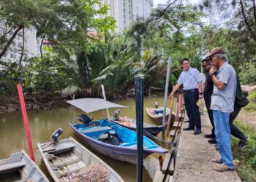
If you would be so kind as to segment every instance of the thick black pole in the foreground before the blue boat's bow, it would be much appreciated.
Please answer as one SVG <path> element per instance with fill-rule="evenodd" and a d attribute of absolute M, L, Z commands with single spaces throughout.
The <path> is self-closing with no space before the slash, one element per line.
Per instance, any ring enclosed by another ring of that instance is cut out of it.
<path fill-rule="evenodd" d="M 136 126 L 137 126 L 137 181 L 143 181 L 143 89 L 144 75 L 135 76 Z"/>

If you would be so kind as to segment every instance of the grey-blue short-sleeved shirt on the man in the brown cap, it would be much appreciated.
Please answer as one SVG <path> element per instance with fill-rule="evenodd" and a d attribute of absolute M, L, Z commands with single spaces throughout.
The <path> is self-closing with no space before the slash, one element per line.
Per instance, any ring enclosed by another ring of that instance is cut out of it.
<path fill-rule="evenodd" d="M 217 78 L 226 86 L 219 90 L 214 85 L 214 93 L 211 95 L 211 109 L 231 113 L 234 111 L 236 96 L 236 72 L 227 62 L 217 71 Z"/>

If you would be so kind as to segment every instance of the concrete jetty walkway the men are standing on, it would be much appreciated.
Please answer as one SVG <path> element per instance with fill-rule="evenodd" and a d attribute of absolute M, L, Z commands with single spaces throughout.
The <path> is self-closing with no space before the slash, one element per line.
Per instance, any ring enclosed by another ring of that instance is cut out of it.
<path fill-rule="evenodd" d="M 219 151 L 213 144 L 208 143 L 204 135 L 211 133 L 211 122 L 208 114 L 201 115 L 202 133 L 193 135 L 193 131 L 179 130 L 177 146 L 171 154 L 166 154 L 162 170 L 158 171 L 153 181 L 173 182 L 216 182 L 232 181 L 241 182 L 235 171 L 217 172 L 213 167 L 217 164 L 211 159 L 219 157 Z M 187 122 L 182 122 L 182 127 L 188 127 Z M 170 132 L 170 135 L 172 131 Z M 164 179 L 164 175 L 167 176 Z"/>

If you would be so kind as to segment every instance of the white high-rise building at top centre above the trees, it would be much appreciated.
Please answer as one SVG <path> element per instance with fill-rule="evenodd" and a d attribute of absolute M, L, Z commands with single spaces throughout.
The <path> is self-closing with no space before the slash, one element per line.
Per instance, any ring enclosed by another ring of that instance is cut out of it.
<path fill-rule="evenodd" d="M 153 0 L 101 0 L 110 7 L 109 16 L 116 19 L 116 32 L 121 32 L 133 21 L 146 18 L 153 8 Z"/>

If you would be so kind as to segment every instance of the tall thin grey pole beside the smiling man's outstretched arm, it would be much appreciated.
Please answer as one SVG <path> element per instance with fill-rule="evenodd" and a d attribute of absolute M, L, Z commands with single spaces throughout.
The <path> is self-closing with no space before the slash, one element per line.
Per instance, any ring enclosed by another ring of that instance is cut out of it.
<path fill-rule="evenodd" d="M 167 106 L 167 95 L 168 95 L 168 85 L 169 85 L 169 77 L 170 77 L 170 66 L 171 66 L 172 59 L 168 58 L 168 65 L 167 65 L 167 74 L 165 80 L 165 100 L 164 100 L 164 113 L 162 117 L 162 125 L 165 126 L 166 121 L 166 106 Z M 170 113 L 171 114 L 171 113 Z M 162 139 L 165 140 L 165 129 L 162 130 Z"/>

